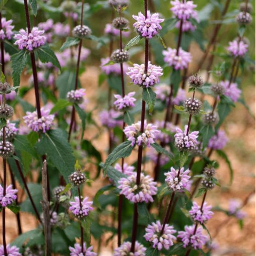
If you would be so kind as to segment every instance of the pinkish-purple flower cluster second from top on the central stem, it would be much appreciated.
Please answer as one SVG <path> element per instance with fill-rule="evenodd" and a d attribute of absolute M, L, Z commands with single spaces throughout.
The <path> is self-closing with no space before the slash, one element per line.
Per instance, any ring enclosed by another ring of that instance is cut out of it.
<path fill-rule="evenodd" d="M 127 72 L 126 74 L 130 76 L 132 82 L 143 87 L 154 86 L 159 82 L 158 77 L 163 75 L 163 69 L 152 65 L 150 61 L 148 62 L 148 70 L 146 74 L 144 64 L 134 64 L 133 67 L 128 69 L 130 72 Z"/>

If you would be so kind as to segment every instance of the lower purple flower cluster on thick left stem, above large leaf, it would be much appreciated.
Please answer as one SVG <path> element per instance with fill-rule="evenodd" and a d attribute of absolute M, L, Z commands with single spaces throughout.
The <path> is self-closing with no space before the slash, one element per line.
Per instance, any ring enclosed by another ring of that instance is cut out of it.
<path fill-rule="evenodd" d="M 50 109 L 41 108 L 41 118 L 38 118 L 37 112 L 26 112 L 23 117 L 25 124 L 34 132 L 43 131 L 44 133 L 50 130 L 53 125 L 54 115 L 50 115 Z"/>

